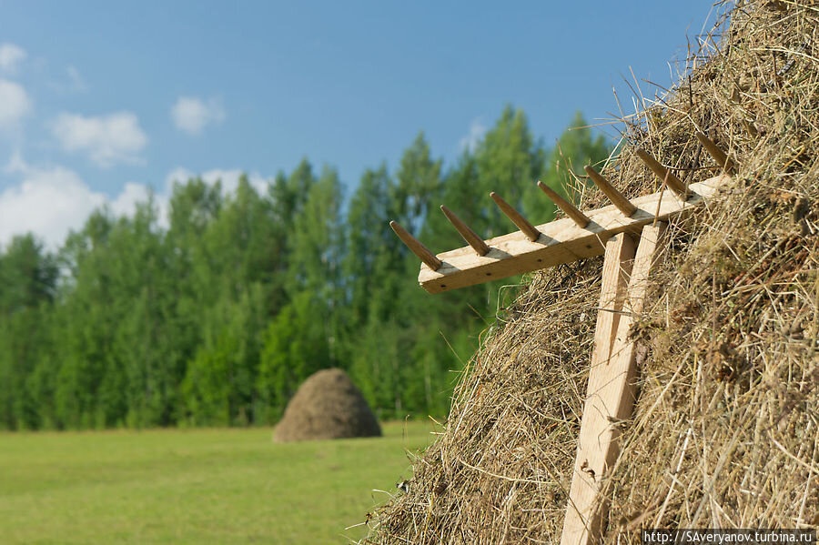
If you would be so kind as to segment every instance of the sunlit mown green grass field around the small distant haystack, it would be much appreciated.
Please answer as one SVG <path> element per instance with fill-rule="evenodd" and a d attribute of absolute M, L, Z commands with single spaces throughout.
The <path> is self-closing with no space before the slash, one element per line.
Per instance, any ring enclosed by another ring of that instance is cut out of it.
<path fill-rule="evenodd" d="M 271 429 L 0 434 L 0 542 L 347 543 L 410 476 L 405 449 L 432 426 L 383 438 L 276 444 Z"/>

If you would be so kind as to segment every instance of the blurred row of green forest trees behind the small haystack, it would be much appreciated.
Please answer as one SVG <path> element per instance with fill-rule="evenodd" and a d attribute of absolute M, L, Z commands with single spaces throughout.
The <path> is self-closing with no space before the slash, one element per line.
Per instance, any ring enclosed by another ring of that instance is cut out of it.
<path fill-rule="evenodd" d="M 421 133 L 349 196 L 333 167 L 305 158 L 263 191 L 247 177 L 235 192 L 177 183 L 167 221 L 149 199 L 131 216 L 96 210 L 59 248 L 33 234 L 3 241 L 0 429 L 269 425 L 329 367 L 346 369 L 381 419 L 445 416 L 519 279 L 430 296 L 388 222 L 437 253 L 464 246 L 441 203 L 485 237 L 515 228 L 490 191 L 549 221 L 535 182 L 573 197 L 571 173 L 612 151 L 571 130 L 585 125 L 575 115 L 546 146 L 507 106 L 452 165 Z"/>

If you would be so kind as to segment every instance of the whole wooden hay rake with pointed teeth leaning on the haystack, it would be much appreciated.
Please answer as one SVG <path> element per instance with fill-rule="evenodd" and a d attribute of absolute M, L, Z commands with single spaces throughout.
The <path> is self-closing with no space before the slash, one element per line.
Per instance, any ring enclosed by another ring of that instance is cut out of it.
<path fill-rule="evenodd" d="M 483 240 L 442 206 L 443 213 L 469 246 L 437 256 L 399 224 L 389 223 L 422 261 L 418 281 L 430 293 L 604 256 L 591 371 L 561 545 L 586 545 L 596 541 L 603 530 L 607 510 L 604 487 L 620 452 L 622 423 L 631 418 L 635 400 L 636 344 L 630 332 L 642 312 L 652 265 L 662 255 L 665 222 L 702 205 L 731 179 L 734 167 L 731 159 L 707 136 L 697 134 L 697 138 L 723 168 L 723 174 L 686 186 L 669 169 L 638 149 L 637 155 L 662 180 L 661 191 L 629 200 L 597 171 L 586 167 L 591 181 L 612 205 L 581 212 L 538 182 L 567 217 L 537 227 L 492 192 L 490 197 L 520 230 L 489 240 Z"/>

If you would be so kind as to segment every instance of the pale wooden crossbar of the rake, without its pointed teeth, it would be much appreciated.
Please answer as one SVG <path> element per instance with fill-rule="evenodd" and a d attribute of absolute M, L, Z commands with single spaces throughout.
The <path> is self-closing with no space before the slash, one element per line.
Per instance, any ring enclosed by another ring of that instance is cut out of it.
<path fill-rule="evenodd" d="M 520 231 L 490 238 L 490 251 L 476 256 L 470 247 L 460 247 L 438 255 L 443 265 L 436 271 L 421 265 L 418 281 L 430 293 L 473 286 L 488 280 L 507 278 L 540 268 L 569 263 L 584 257 L 600 256 L 605 242 L 618 233 L 639 234 L 642 227 L 671 217 L 685 216 L 731 180 L 720 175 L 692 184 L 686 201 L 670 193 L 653 193 L 632 199 L 637 211 L 623 217 L 613 205 L 586 212 L 591 223 L 581 228 L 564 218 L 537 226 L 541 237 L 532 242 Z M 655 216 L 656 214 L 656 216 Z"/>

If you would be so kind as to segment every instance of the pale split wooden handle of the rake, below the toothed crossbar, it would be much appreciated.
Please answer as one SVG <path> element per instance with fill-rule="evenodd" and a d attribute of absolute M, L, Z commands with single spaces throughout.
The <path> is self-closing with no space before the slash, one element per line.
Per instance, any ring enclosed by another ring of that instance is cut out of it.
<path fill-rule="evenodd" d="M 594 352 L 561 545 L 589 545 L 600 538 L 608 509 L 606 479 L 620 452 L 619 424 L 631 418 L 634 406 L 637 366 L 631 328 L 642 312 L 664 228 L 662 222 L 643 227 L 636 256 L 625 240 L 612 238 L 606 244 Z M 631 257 L 633 264 L 628 262 Z"/>

